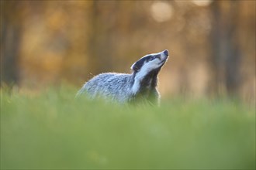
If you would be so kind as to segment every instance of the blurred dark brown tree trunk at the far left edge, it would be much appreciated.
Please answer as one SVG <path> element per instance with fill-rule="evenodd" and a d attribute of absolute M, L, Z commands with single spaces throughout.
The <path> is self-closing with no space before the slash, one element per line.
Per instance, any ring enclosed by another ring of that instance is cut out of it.
<path fill-rule="evenodd" d="M 19 84 L 19 47 L 21 26 L 13 2 L 1 2 L 1 86 Z"/>

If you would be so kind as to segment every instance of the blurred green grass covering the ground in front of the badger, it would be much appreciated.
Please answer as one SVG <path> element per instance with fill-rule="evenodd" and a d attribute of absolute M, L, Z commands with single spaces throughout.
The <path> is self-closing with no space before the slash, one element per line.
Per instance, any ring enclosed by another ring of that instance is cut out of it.
<path fill-rule="evenodd" d="M 255 113 L 231 100 L 121 107 L 73 88 L 1 91 L 1 168 L 255 168 Z"/>

